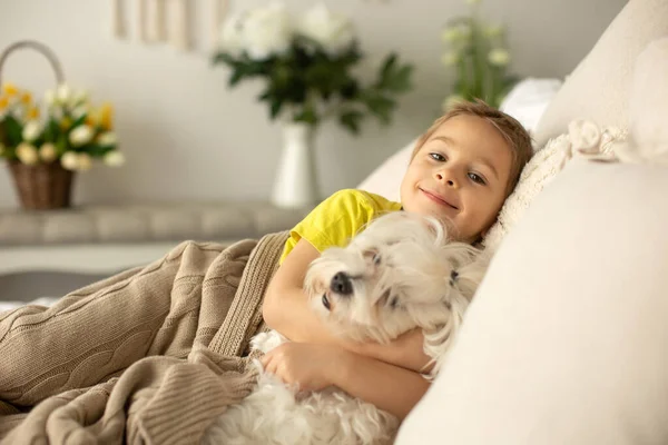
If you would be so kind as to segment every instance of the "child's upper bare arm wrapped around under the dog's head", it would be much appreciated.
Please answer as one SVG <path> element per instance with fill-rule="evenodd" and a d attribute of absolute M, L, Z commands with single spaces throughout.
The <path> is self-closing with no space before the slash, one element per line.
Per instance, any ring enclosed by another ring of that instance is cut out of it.
<path fill-rule="evenodd" d="M 318 256 L 317 249 L 305 239 L 287 255 L 265 295 L 263 317 L 266 324 L 293 342 L 337 345 L 407 369 L 422 370 L 430 359 L 423 352 L 423 336 L 418 330 L 387 345 L 343 340 L 330 333 L 308 306 L 308 297 L 302 288 L 308 265 Z"/>

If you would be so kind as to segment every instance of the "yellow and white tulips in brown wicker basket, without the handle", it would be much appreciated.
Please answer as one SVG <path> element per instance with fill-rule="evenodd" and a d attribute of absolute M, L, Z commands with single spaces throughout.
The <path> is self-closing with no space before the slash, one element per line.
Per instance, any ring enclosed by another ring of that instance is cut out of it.
<path fill-rule="evenodd" d="M 125 161 L 110 105 L 95 108 L 85 91 L 75 92 L 65 83 L 47 91 L 46 103 L 42 111 L 30 92 L 2 86 L 0 157 L 28 209 L 68 207 L 73 174 L 89 170 L 96 158 L 112 167 Z"/>

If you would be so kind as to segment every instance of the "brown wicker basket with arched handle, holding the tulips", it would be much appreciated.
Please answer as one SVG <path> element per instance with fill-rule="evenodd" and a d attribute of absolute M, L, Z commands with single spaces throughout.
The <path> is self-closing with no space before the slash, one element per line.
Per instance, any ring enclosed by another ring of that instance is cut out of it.
<path fill-rule="evenodd" d="M 0 55 L 0 86 L 2 85 L 2 67 L 9 55 L 26 48 L 35 49 L 43 55 L 56 73 L 58 85 L 65 82 L 60 62 L 53 51 L 38 41 L 22 40 L 10 44 Z M 0 138 L 1 136 L 0 134 Z M 7 164 L 23 208 L 45 210 L 70 206 L 73 172 L 62 168 L 60 160 L 35 166 L 27 166 L 16 160 L 9 160 Z"/>

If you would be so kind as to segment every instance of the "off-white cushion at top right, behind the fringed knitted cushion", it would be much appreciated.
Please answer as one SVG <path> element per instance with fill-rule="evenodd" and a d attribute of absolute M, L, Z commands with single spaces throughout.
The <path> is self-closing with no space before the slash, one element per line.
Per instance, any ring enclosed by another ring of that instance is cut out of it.
<path fill-rule="evenodd" d="M 650 41 L 666 34 L 668 1 L 630 0 L 546 110 L 536 131 L 537 146 L 564 132 L 573 119 L 628 127 L 635 60 Z"/>

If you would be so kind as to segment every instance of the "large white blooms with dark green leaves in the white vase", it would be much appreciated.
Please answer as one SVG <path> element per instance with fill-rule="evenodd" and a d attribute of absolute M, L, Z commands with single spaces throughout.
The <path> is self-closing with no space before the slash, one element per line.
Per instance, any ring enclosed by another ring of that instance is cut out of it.
<path fill-rule="evenodd" d="M 354 69 L 363 59 L 348 18 L 317 4 L 299 17 L 283 3 L 244 11 L 223 27 L 214 63 L 227 66 L 228 83 L 262 79 L 258 100 L 272 119 L 316 127 L 330 117 L 356 134 L 366 115 L 389 122 L 394 96 L 411 89 L 412 67 L 389 55 L 377 79 L 363 82 Z"/>

